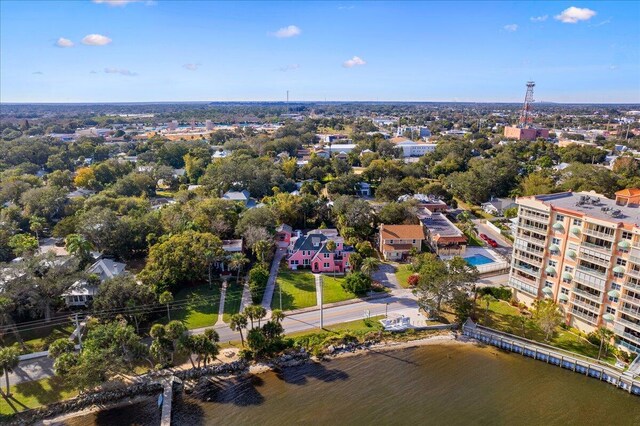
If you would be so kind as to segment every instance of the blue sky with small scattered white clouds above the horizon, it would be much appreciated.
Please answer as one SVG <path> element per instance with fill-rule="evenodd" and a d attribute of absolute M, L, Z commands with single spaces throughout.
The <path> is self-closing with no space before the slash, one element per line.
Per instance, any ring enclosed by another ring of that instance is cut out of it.
<path fill-rule="evenodd" d="M 0 101 L 640 102 L 640 2 L 0 0 Z"/>

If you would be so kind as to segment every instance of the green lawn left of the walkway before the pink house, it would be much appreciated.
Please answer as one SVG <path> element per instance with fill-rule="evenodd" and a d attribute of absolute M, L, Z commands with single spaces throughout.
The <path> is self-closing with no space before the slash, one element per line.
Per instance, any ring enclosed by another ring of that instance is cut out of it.
<path fill-rule="evenodd" d="M 280 290 L 283 311 L 316 305 L 316 283 L 311 272 L 280 269 L 271 301 L 272 309 L 280 309 Z"/>

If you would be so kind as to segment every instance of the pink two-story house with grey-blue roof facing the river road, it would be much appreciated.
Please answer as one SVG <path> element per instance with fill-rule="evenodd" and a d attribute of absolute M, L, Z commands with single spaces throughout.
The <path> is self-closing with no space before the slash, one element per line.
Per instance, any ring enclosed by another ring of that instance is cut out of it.
<path fill-rule="evenodd" d="M 327 243 L 336 243 L 332 252 Z M 344 239 L 335 229 L 316 229 L 307 235 L 291 239 L 288 259 L 290 269 L 309 268 L 312 272 L 347 272 L 350 270 L 349 256 L 353 249 L 345 246 Z"/>

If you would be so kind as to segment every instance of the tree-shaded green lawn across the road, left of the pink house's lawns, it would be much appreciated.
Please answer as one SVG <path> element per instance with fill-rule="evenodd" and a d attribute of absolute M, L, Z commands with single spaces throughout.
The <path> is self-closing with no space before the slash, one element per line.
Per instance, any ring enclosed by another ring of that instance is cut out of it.
<path fill-rule="evenodd" d="M 220 284 L 213 283 L 197 287 L 187 287 L 175 295 L 175 302 L 186 302 L 181 307 L 171 311 L 172 320 L 184 322 L 188 329 L 200 327 L 213 327 L 218 320 L 218 308 L 220 307 Z M 162 319 L 167 322 L 167 317 Z"/>

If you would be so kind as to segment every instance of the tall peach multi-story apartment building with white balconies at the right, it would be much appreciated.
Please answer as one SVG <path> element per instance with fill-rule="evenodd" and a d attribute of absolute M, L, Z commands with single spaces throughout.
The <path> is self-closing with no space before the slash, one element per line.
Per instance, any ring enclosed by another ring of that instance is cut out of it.
<path fill-rule="evenodd" d="M 509 285 L 527 304 L 549 298 L 566 323 L 614 331 L 640 353 L 640 189 L 517 199 Z"/>

